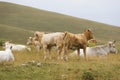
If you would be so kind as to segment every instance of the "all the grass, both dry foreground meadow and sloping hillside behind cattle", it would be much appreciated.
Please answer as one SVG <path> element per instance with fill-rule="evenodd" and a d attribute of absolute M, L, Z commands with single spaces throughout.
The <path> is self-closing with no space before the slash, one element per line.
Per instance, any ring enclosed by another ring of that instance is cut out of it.
<path fill-rule="evenodd" d="M 98 44 L 117 40 L 118 54 L 58 61 L 52 51 L 52 60 L 43 61 L 43 50 L 13 52 L 12 65 L 0 65 L 0 80 L 120 80 L 120 28 L 95 21 L 75 18 L 22 5 L 0 2 L 0 41 L 26 44 L 34 31 L 82 33 L 92 29 Z M 1 50 L 2 48 L 0 48 Z M 26 65 L 27 63 L 27 65 Z M 39 63 L 39 66 L 37 65 Z"/>

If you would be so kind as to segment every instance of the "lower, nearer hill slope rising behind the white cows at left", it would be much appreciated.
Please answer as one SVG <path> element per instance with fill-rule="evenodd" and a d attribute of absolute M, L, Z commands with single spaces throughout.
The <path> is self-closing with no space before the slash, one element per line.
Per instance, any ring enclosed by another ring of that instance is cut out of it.
<path fill-rule="evenodd" d="M 27 36 L 33 35 L 32 31 L 28 31 L 25 29 L 21 29 L 18 27 L 11 27 L 7 25 L 0 24 L 0 39 L 2 40 L 12 40 L 13 43 L 23 43 L 25 44 L 25 40 L 27 41 Z M 26 37 L 25 37 L 26 36 Z"/>

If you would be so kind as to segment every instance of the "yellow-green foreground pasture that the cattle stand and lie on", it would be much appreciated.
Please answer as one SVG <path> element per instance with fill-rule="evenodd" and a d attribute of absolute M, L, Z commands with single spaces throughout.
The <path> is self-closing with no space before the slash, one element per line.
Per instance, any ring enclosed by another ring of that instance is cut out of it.
<path fill-rule="evenodd" d="M 43 50 L 14 51 L 14 64 L 0 65 L 0 80 L 120 80 L 120 53 L 89 57 L 88 61 L 72 57 L 65 62 L 52 52 L 52 60 L 45 62 Z"/>

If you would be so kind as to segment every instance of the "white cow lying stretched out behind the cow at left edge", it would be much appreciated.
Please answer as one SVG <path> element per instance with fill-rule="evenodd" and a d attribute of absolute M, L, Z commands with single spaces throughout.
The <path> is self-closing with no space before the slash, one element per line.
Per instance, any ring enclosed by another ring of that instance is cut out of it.
<path fill-rule="evenodd" d="M 21 45 L 21 44 L 13 44 L 13 43 L 10 43 L 9 41 L 5 42 L 5 46 L 6 45 L 12 45 L 13 51 L 21 51 L 21 50 L 25 50 L 25 49 L 27 49 L 28 51 L 31 51 L 30 47 L 27 47 L 27 46 Z"/>

